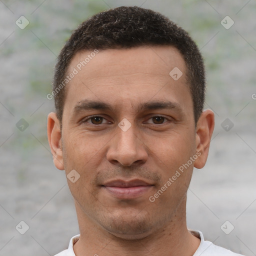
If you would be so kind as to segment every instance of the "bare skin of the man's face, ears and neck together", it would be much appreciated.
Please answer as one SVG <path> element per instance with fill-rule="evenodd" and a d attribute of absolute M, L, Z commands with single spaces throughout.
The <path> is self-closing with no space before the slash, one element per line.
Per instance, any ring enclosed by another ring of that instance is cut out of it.
<path fill-rule="evenodd" d="M 89 53 L 76 53 L 67 73 Z M 169 75 L 174 67 L 183 73 L 177 80 Z M 185 73 L 172 46 L 102 50 L 68 83 L 61 131 L 49 113 L 54 164 L 66 175 L 72 169 L 80 175 L 74 183 L 67 179 L 80 230 L 75 255 L 191 256 L 198 248 L 200 240 L 186 226 L 186 192 L 193 167 L 206 162 L 214 115 L 204 110 L 195 125 Z M 111 108 L 86 109 L 86 100 Z M 171 103 L 138 107 L 145 102 Z M 125 131 L 118 126 L 123 118 L 131 125 Z M 116 189 L 120 180 L 129 188 Z M 141 189 L 133 189 L 136 182 L 144 182 Z"/>

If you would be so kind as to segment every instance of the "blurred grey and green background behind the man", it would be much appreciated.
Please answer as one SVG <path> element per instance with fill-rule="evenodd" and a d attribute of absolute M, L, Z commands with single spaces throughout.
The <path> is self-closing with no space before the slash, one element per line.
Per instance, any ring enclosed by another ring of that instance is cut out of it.
<path fill-rule="evenodd" d="M 194 169 L 188 190 L 188 227 L 256 255 L 254 0 L 0 0 L 0 255 L 54 255 L 79 233 L 65 174 L 47 142 L 54 107 L 46 95 L 71 30 L 121 5 L 165 14 L 201 50 L 215 129 L 208 161 Z"/>

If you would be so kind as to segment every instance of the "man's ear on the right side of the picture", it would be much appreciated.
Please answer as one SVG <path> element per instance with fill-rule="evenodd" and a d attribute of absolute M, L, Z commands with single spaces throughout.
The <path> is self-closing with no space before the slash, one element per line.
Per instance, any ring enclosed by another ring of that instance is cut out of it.
<path fill-rule="evenodd" d="M 198 153 L 197 159 L 194 161 L 195 168 L 202 168 L 207 160 L 210 138 L 214 129 L 214 113 L 210 109 L 205 109 L 196 125 L 196 152 Z"/>

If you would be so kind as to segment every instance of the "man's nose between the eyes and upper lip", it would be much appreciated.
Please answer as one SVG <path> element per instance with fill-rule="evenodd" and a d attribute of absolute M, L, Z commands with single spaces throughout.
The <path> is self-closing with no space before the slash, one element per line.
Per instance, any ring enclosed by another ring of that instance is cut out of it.
<path fill-rule="evenodd" d="M 148 154 L 146 145 L 142 138 L 135 134 L 134 125 L 127 130 L 116 127 L 116 134 L 109 142 L 106 158 L 112 164 L 119 163 L 123 166 L 130 166 L 134 163 L 144 163 Z"/>

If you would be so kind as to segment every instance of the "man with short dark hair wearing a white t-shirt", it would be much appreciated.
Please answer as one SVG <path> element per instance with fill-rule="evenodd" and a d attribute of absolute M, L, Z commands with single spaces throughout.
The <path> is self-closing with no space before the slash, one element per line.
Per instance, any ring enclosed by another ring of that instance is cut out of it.
<path fill-rule="evenodd" d="M 160 13 L 122 6 L 73 31 L 48 95 L 48 141 L 80 230 L 58 256 L 239 255 L 186 226 L 214 127 L 204 91 L 197 46 Z"/>

